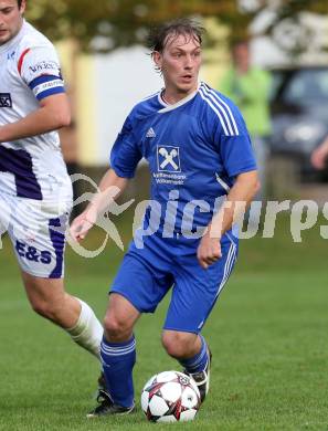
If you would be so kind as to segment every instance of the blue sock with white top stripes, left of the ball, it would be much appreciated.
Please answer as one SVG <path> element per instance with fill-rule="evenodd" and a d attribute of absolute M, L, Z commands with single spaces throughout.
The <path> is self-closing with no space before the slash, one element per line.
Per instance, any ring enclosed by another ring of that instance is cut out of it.
<path fill-rule="evenodd" d="M 136 340 L 109 343 L 103 338 L 100 357 L 105 375 L 106 389 L 115 404 L 134 404 L 133 368 L 136 364 Z"/>

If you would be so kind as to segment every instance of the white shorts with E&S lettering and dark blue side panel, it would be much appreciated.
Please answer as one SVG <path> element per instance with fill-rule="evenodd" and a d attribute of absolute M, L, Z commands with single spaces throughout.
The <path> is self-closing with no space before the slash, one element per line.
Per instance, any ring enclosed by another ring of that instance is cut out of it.
<path fill-rule="evenodd" d="M 8 232 L 24 272 L 61 278 L 71 210 L 72 199 L 44 202 L 0 193 L 0 249 L 1 235 Z"/>

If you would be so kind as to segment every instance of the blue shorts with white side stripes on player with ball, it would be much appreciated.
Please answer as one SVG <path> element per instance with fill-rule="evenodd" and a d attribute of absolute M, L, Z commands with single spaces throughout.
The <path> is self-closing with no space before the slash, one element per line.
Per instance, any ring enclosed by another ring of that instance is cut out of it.
<path fill-rule="evenodd" d="M 130 248 L 114 280 L 110 293 L 126 297 L 140 313 L 154 313 L 172 287 L 165 329 L 200 333 L 237 255 L 237 243 L 224 236 L 222 257 L 203 270 L 197 243 L 152 234 L 142 249 Z"/>

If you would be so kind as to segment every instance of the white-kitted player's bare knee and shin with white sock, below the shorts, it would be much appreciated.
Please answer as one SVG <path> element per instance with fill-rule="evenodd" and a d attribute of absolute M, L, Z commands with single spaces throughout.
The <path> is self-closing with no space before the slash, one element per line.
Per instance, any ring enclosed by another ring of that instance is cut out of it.
<path fill-rule="evenodd" d="M 36 277 L 24 271 L 22 278 L 32 308 L 99 359 L 103 326 L 93 309 L 65 292 L 63 278 Z"/>

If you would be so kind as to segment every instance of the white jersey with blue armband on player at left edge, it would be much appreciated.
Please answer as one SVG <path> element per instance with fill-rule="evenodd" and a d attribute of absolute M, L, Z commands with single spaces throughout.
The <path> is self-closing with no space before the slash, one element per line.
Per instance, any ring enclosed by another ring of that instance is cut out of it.
<path fill-rule="evenodd" d="M 20 32 L 0 46 L 0 126 L 24 118 L 41 99 L 64 91 L 53 44 L 24 21 Z M 35 200 L 55 199 L 54 190 L 61 190 L 62 198 L 68 198 L 71 181 L 59 134 L 2 143 L 0 190 Z"/>

